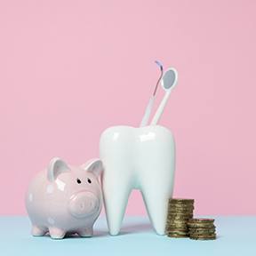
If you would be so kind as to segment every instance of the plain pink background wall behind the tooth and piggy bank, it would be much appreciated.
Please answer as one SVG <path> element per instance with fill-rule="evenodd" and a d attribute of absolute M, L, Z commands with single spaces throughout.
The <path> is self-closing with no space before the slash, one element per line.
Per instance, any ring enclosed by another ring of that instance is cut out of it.
<path fill-rule="evenodd" d="M 1 1 L 0 214 L 25 213 L 28 181 L 52 156 L 83 163 L 109 125 L 140 124 L 154 60 L 180 73 L 161 120 L 177 142 L 174 196 L 195 198 L 198 214 L 255 214 L 255 10 L 249 0 Z M 138 192 L 127 212 L 145 213 Z"/>

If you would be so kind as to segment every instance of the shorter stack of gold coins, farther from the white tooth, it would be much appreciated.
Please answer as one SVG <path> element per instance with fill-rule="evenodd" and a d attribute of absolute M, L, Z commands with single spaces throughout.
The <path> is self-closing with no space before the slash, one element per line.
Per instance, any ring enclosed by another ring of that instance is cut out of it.
<path fill-rule="evenodd" d="M 189 238 L 196 240 L 216 239 L 213 219 L 191 219 L 188 221 Z"/>

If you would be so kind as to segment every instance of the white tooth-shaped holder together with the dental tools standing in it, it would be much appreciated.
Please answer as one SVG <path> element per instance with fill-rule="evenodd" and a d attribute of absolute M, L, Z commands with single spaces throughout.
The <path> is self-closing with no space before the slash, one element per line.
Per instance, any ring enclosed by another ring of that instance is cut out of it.
<path fill-rule="evenodd" d="M 168 198 L 172 197 L 175 145 L 172 132 L 157 122 L 177 82 L 177 72 L 169 68 L 163 76 L 162 66 L 161 72 L 158 82 L 161 80 L 165 95 L 151 124 L 147 125 L 156 90 L 140 127 L 114 126 L 100 137 L 100 159 L 104 166 L 102 188 L 110 235 L 119 233 L 128 197 L 134 188 L 141 191 L 156 233 L 165 233 Z"/>

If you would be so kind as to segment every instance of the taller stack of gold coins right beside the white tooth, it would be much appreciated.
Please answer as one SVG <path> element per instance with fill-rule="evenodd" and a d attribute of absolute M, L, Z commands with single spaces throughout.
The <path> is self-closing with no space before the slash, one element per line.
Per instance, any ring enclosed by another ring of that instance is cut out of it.
<path fill-rule="evenodd" d="M 170 237 L 187 237 L 188 220 L 193 218 L 194 199 L 170 198 L 165 232 Z"/>

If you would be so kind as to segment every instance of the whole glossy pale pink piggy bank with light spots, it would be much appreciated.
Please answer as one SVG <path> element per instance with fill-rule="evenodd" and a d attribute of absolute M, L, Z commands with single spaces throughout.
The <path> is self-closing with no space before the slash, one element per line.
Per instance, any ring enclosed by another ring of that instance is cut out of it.
<path fill-rule="evenodd" d="M 28 187 L 26 207 L 32 235 L 49 232 L 54 239 L 61 239 L 66 233 L 92 236 L 102 206 L 102 169 L 98 159 L 75 167 L 53 158 Z"/>

